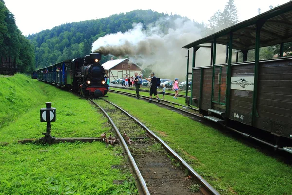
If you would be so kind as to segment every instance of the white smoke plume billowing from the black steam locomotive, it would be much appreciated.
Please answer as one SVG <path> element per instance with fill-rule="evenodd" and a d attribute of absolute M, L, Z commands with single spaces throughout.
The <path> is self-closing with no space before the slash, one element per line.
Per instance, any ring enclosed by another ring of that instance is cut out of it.
<path fill-rule="evenodd" d="M 162 25 L 168 24 L 169 29 L 162 31 Z M 114 56 L 128 55 L 134 63 L 142 64 L 142 68 L 152 65 L 155 75 L 160 78 L 180 78 L 186 76 L 187 50 L 182 47 L 201 38 L 201 30 L 191 20 L 161 19 L 143 29 L 143 24 L 134 23 L 133 29 L 125 33 L 108 34 L 97 39 L 92 45 L 93 52 Z M 197 52 L 200 60 L 197 66 L 210 65 L 210 49 L 201 48 Z M 190 67 L 192 66 L 192 50 L 190 50 Z M 190 68 L 191 71 L 191 68 Z M 146 76 L 147 77 L 147 76 Z"/>

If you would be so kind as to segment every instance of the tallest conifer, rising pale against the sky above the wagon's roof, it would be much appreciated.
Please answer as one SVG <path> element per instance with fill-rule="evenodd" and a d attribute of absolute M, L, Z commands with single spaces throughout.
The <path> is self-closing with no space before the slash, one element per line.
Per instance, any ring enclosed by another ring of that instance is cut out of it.
<path fill-rule="evenodd" d="M 234 0 L 228 0 L 222 16 L 224 28 L 233 26 L 240 21 L 238 18 L 237 7 L 234 4 Z"/>

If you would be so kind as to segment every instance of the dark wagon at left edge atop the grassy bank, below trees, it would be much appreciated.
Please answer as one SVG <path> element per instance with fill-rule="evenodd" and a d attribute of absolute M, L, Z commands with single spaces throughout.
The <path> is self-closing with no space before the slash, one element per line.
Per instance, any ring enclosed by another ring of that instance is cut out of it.
<path fill-rule="evenodd" d="M 0 57 L 0 74 L 1 75 L 14 75 L 17 72 L 17 65 L 15 58 Z"/>

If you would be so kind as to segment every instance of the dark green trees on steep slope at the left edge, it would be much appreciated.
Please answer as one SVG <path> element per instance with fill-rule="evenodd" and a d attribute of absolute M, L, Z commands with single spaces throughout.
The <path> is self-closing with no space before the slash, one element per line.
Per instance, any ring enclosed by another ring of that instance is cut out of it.
<path fill-rule="evenodd" d="M 14 15 L 0 0 L 0 56 L 16 58 L 19 72 L 35 69 L 35 52 L 15 24 Z"/>

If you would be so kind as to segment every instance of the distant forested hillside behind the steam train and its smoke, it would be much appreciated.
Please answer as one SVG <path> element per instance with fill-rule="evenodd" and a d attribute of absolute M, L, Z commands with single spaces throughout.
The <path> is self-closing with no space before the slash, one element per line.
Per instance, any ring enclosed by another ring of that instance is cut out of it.
<path fill-rule="evenodd" d="M 73 59 L 91 53 L 92 43 L 106 34 L 125 32 L 132 29 L 132 24 L 143 23 L 144 27 L 168 14 L 152 10 L 134 10 L 126 14 L 115 14 L 107 18 L 67 23 L 44 30 L 28 39 L 35 46 L 38 67 L 55 64 L 65 59 Z M 178 18 L 178 15 L 170 17 Z M 102 63 L 110 57 L 103 57 Z"/>

